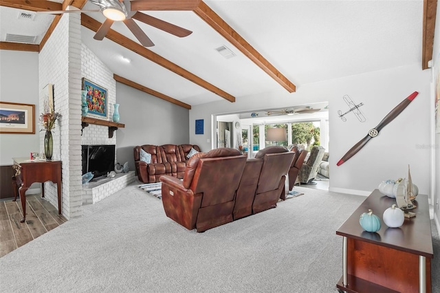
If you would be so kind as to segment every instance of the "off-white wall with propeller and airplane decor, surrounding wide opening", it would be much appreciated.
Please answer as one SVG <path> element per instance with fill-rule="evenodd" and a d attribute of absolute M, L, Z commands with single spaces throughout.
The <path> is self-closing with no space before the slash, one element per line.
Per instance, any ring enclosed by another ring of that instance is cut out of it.
<path fill-rule="evenodd" d="M 421 148 L 431 142 L 432 98 L 430 70 L 419 63 L 404 67 L 348 76 L 321 83 L 300 85 L 296 93 L 280 91 L 237 98 L 236 102 L 212 102 L 193 106 L 190 111 L 190 143 L 203 150 L 211 148 L 212 115 L 258 111 L 329 101 L 330 190 L 368 195 L 382 180 L 406 177 L 408 164 L 412 180 L 420 193 L 430 195 L 430 151 Z M 404 98 L 419 91 L 419 96 L 380 135 L 373 138 L 357 155 L 341 166 L 336 163 L 351 146 L 360 141 Z M 342 122 L 338 110 L 347 109 L 342 96 L 349 94 L 355 102 L 364 102 L 367 120 Z M 195 120 L 205 120 L 205 134 L 195 135 Z"/>

